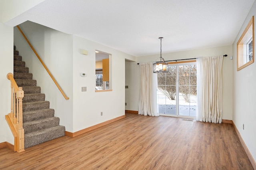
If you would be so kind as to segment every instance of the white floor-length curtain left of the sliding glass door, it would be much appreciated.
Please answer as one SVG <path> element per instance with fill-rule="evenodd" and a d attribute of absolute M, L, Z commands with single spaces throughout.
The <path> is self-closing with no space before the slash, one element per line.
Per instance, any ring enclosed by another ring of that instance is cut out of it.
<path fill-rule="evenodd" d="M 153 73 L 153 63 L 140 63 L 140 100 L 139 114 L 159 116 L 156 112 L 156 73 Z"/>

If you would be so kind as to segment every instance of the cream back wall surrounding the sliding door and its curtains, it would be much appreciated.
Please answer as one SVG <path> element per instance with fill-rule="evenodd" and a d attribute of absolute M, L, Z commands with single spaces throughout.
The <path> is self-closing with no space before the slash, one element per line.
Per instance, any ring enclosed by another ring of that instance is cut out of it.
<path fill-rule="evenodd" d="M 173 59 L 188 59 L 196 57 L 208 57 L 214 55 L 224 55 L 223 60 L 223 117 L 222 119 L 232 120 L 232 45 L 222 47 L 212 47 L 205 49 L 195 49 L 190 51 L 180 51 L 174 53 L 164 53 L 162 57 L 167 60 Z M 159 60 L 160 53 L 157 55 L 148 55 L 137 57 L 136 62 L 126 62 L 126 85 L 129 89 L 126 90 L 126 110 L 138 111 L 139 88 L 140 88 L 140 66 L 138 63 Z M 128 96 L 129 95 L 129 96 Z"/>

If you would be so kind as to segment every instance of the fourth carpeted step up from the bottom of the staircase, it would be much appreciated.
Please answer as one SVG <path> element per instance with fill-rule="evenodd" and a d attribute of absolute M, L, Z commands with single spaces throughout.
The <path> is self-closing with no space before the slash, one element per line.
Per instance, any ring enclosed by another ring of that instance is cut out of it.
<path fill-rule="evenodd" d="M 41 109 L 49 109 L 49 101 L 36 101 L 36 102 L 26 102 L 22 103 L 22 111 L 36 111 Z"/>

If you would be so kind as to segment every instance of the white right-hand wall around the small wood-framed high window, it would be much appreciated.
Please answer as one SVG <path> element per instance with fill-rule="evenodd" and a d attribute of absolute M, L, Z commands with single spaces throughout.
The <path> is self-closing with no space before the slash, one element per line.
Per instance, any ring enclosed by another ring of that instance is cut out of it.
<path fill-rule="evenodd" d="M 254 2 L 244 24 L 238 33 L 234 43 L 233 43 L 233 122 L 236 125 L 238 131 L 240 132 L 246 146 L 248 147 L 250 153 L 254 160 L 256 160 L 256 63 L 255 63 L 255 52 L 254 52 L 254 63 L 236 71 L 236 43 L 238 39 L 244 32 L 248 22 L 254 16 L 254 40 L 256 40 L 255 33 L 255 16 L 256 16 L 256 2 Z M 254 51 L 256 49 L 254 43 Z M 244 130 L 243 130 L 244 124 Z"/>

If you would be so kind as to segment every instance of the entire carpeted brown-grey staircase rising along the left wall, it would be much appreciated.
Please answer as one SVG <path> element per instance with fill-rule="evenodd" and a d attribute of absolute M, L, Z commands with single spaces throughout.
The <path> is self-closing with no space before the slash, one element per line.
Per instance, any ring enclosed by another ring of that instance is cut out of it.
<path fill-rule="evenodd" d="M 15 46 L 14 79 L 24 91 L 24 148 L 64 136 L 65 127 L 59 125 L 58 117 L 54 117 L 54 109 L 49 109 L 50 102 L 44 100 L 45 95 L 40 93 L 41 88 L 36 86 L 36 80 L 32 79 L 32 73 L 28 73 L 28 67 L 25 67 L 25 62 Z"/>

